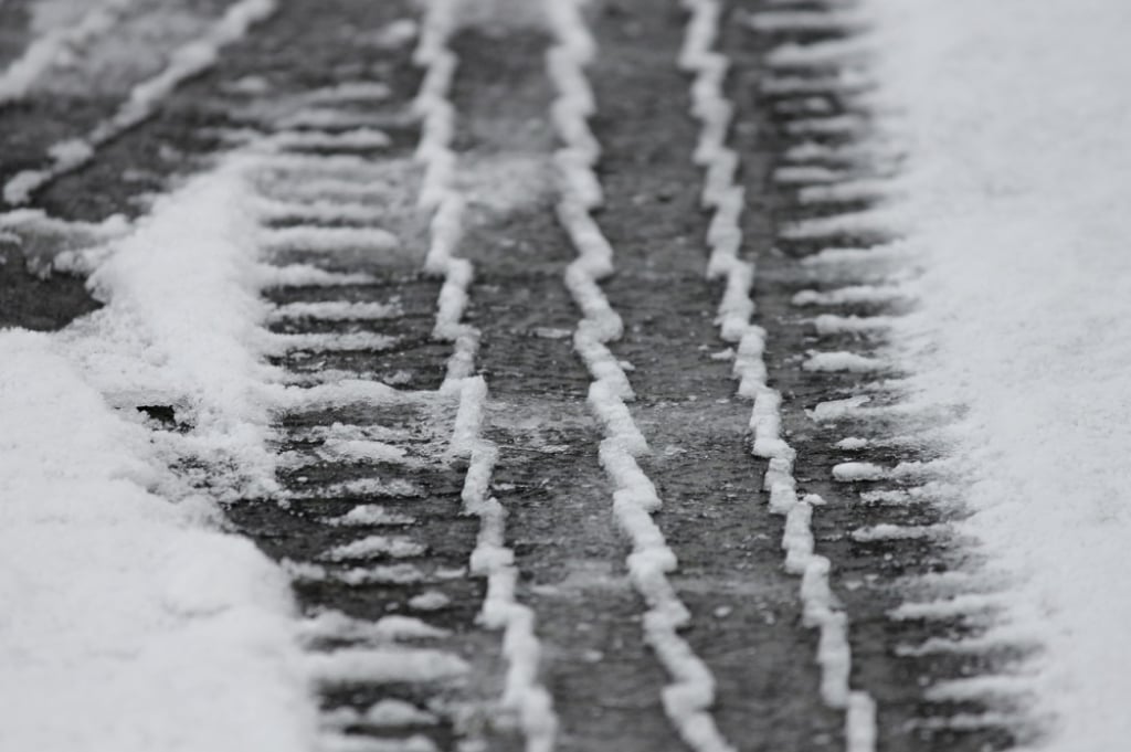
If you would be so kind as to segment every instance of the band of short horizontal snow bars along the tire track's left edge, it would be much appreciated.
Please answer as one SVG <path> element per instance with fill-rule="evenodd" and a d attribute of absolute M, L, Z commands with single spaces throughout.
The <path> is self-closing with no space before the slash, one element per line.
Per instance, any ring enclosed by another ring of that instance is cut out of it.
<path fill-rule="evenodd" d="M 259 171 L 293 166 L 288 142 L 267 139 Z M 333 152 L 310 154 L 304 164 L 318 168 L 320 161 L 330 184 L 375 176 L 349 170 L 335 176 L 343 163 Z M 372 164 L 382 162 L 379 156 Z M 391 178 L 399 176 L 392 170 Z M 265 227 L 268 257 L 303 271 L 293 280 L 299 288 L 273 314 L 284 329 L 275 335 L 282 362 L 353 357 L 337 370 L 303 368 L 300 383 L 279 397 L 283 491 L 231 515 L 285 556 L 305 605 L 308 667 L 326 705 L 320 749 L 430 752 L 466 733 L 447 703 L 467 701 L 459 684 L 475 665 L 465 654 L 467 640 L 452 631 L 466 608 L 455 604 L 477 595 L 461 585 L 467 554 L 460 550 L 470 550 L 473 533 L 458 530 L 444 498 L 457 495 L 460 484 L 447 459 L 448 433 L 458 423 L 451 399 L 382 383 L 372 369 L 357 368 L 385 360 L 383 343 L 400 335 L 382 329 L 404 331 L 406 306 L 429 304 L 425 289 L 408 285 L 381 299 L 389 287 L 379 284 L 380 268 L 406 262 L 387 241 L 366 242 L 366 235 L 388 236 L 382 219 L 345 234 L 321 233 L 325 225 L 317 223 L 288 225 L 303 231 L 293 248 L 277 242 L 277 228 Z M 327 259 L 359 250 L 375 257 L 370 266 L 377 274 L 323 268 Z M 426 336 L 420 332 L 417 342 Z M 388 613 L 390 606 L 414 615 Z"/>

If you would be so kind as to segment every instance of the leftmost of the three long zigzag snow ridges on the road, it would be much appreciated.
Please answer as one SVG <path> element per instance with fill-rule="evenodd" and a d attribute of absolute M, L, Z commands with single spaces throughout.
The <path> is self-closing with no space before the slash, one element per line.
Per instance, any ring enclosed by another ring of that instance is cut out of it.
<path fill-rule="evenodd" d="M 490 494 L 499 452 L 494 443 L 482 438 L 486 381 L 472 375 L 480 330 L 461 322 L 474 268 L 467 259 L 455 256 L 463 231 L 464 198 L 452 187 L 455 107 L 448 97 L 459 59 L 448 42 L 456 27 L 457 3 L 458 0 L 430 0 L 414 54 L 416 64 L 425 70 L 414 102 L 415 111 L 423 118 L 416 149 L 416 158 L 424 164 L 425 171 L 420 205 L 432 211 L 424 268 L 443 275 L 433 336 L 452 342 L 455 348 L 440 391 L 459 396 L 450 452 L 454 458 L 468 463 L 460 498 L 464 512 L 480 519 L 470 560 L 472 573 L 487 580 L 480 619 L 487 629 L 503 630 L 507 678 L 500 705 L 518 716 L 526 737 L 526 752 L 551 752 L 558 736 L 558 717 L 553 698 L 538 682 L 542 646 L 535 634 L 535 616 L 528 606 L 515 598 L 518 568 L 515 552 L 506 545 L 507 511 Z"/>

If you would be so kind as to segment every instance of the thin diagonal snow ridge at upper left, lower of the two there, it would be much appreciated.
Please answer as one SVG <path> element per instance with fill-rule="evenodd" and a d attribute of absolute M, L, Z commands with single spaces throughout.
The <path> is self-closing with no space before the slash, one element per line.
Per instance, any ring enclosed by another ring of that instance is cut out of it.
<path fill-rule="evenodd" d="M 240 0 L 230 7 L 204 36 L 175 50 L 164 70 L 136 85 L 110 120 L 98 123 L 85 137 L 52 146 L 50 166 L 25 170 L 8 180 L 3 187 L 5 201 L 26 204 L 33 192 L 89 163 L 98 148 L 153 116 L 161 102 L 184 80 L 215 64 L 221 47 L 242 38 L 253 24 L 274 14 L 276 6 L 276 0 Z"/>

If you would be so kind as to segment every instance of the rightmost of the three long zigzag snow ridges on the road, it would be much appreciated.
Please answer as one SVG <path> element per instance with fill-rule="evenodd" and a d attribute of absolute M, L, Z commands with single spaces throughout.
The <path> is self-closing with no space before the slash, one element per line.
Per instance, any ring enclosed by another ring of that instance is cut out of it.
<path fill-rule="evenodd" d="M 753 453 L 769 460 L 763 489 L 770 493 L 770 511 L 786 515 L 782 546 L 786 571 L 798 574 L 803 623 L 820 630 L 817 662 L 821 667 L 821 698 L 830 708 L 845 711 L 845 742 L 849 752 L 875 749 L 875 702 L 867 692 L 849 685 L 852 650 L 848 620 L 837 608 L 829 587 L 830 562 L 813 553 L 813 508 L 820 496 L 798 500 L 793 461 L 796 452 L 782 438 L 782 395 L 767 384 L 763 360 L 766 332 L 750 322 L 754 302 L 750 289 L 754 266 L 739 258 L 742 243 L 740 217 L 743 189 L 734 181 L 739 156 L 727 148 L 726 136 L 733 104 L 723 92 L 728 60 L 713 52 L 723 6 L 718 0 L 683 0 L 691 12 L 679 64 L 694 74 L 691 113 L 702 123 L 693 159 L 706 170 L 702 204 L 714 211 L 707 231 L 709 278 L 726 280 L 716 322 L 723 339 L 737 344 L 734 378 L 739 395 L 754 403 L 750 425 L 754 432 Z"/>

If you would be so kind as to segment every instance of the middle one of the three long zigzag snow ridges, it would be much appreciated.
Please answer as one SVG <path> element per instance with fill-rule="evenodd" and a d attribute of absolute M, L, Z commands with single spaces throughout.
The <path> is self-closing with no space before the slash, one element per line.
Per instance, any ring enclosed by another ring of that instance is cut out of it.
<path fill-rule="evenodd" d="M 602 201 L 601 184 L 593 170 L 601 147 L 587 122 L 596 105 L 585 66 L 593 60 L 596 44 L 582 18 L 581 2 L 545 3 L 550 28 L 556 37 L 546 57 L 549 75 L 558 90 L 552 118 L 563 142 L 554 156 L 561 174 L 558 218 L 578 250 L 578 258 L 566 271 L 566 286 L 582 312 L 573 347 L 594 379 L 588 401 L 604 424 L 601 464 L 616 487 L 613 494 L 616 520 L 632 542 L 627 561 L 629 576 L 648 605 L 644 614 L 645 641 L 672 678 L 663 690 L 664 711 L 697 752 L 732 752 L 734 747 L 723 738 L 709 712 L 715 702 L 715 677 L 679 636 L 691 614 L 667 579 L 677 561 L 650 515 L 662 501 L 637 464 L 636 458 L 648 452 L 648 443 L 625 405 L 625 400 L 633 398 L 632 388 L 623 368 L 606 347 L 606 343 L 620 338 L 623 326 L 597 284 L 613 270 L 613 250 L 589 214 Z"/>

